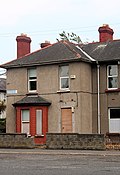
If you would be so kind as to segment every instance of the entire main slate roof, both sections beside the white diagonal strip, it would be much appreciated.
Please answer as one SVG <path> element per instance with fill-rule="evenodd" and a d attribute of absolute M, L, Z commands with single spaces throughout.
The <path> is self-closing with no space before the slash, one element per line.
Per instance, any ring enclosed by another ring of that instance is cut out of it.
<path fill-rule="evenodd" d="M 89 56 L 99 62 L 120 60 L 120 40 L 82 44 L 79 48 L 68 41 L 59 41 L 0 67 L 7 69 L 75 61 L 93 62 Z"/>

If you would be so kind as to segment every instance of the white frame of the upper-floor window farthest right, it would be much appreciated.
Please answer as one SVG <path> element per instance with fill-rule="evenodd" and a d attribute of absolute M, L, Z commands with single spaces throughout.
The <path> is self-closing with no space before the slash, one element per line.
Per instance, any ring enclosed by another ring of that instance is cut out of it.
<path fill-rule="evenodd" d="M 109 75 L 109 66 L 117 66 L 117 74 L 115 74 L 115 75 Z M 115 88 L 110 88 L 109 87 L 109 79 L 110 78 L 117 78 L 117 87 L 115 87 Z M 113 64 L 113 65 L 108 65 L 107 66 L 107 89 L 108 90 L 114 90 L 114 89 L 118 89 L 118 65 L 117 64 Z"/>

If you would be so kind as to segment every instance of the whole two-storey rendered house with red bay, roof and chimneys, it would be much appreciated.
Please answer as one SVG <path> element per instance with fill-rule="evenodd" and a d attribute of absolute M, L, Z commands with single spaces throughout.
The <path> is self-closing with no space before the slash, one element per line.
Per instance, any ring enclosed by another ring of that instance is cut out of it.
<path fill-rule="evenodd" d="M 27 133 L 36 144 L 46 133 L 120 132 L 120 40 L 108 25 L 99 42 L 42 43 L 30 53 L 31 39 L 17 40 L 17 59 L 7 69 L 8 133 Z"/>

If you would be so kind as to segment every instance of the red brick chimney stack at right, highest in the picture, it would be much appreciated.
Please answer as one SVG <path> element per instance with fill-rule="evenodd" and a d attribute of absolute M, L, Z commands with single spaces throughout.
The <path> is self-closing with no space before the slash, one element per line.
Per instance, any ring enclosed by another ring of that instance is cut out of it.
<path fill-rule="evenodd" d="M 106 42 L 108 40 L 113 40 L 113 29 L 109 27 L 108 24 L 103 24 L 102 27 L 99 27 L 99 41 Z"/>

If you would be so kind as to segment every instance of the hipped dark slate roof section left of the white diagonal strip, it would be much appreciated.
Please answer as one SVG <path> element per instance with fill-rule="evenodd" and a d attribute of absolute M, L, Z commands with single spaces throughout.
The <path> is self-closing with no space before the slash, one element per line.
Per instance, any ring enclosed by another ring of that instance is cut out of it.
<path fill-rule="evenodd" d="M 45 65 L 45 64 L 55 64 L 61 62 L 70 62 L 70 61 L 89 61 L 88 57 L 83 54 L 75 44 L 72 44 L 67 41 L 59 41 L 55 44 L 52 44 L 46 48 L 32 52 L 22 58 L 15 59 L 11 62 L 8 62 L 4 65 L 1 65 L 3 68 L 12 68 L 12 67 L 26 67 L 34 65 Z"/>

